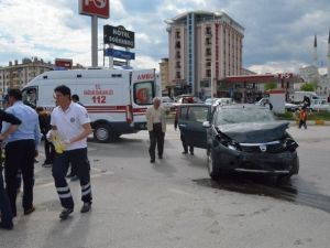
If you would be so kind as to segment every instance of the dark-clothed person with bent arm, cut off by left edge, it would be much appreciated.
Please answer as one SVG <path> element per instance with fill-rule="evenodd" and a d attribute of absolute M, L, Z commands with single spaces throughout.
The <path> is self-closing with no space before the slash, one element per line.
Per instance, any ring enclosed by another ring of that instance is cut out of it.
<path fill-rule="evenodd" d="M 21 120 L 14 117 L 11 114 L 7 114 L 3 110 L 0 110 L 0 122 L 7 121 L 10 126 L 0 134 L 0 142 L 3 142 L 12 132 L 14 132 L 19 125 L 21 125 Z M 2 177 L 2 163 L 3 163 L 3 150 L 0 148 L 0 212 L 1 212 L 1 222 L 0 228 L 12 229 L 12 211 L 10 207 L 9 197 L 3 186 L 3 177 Z"/>

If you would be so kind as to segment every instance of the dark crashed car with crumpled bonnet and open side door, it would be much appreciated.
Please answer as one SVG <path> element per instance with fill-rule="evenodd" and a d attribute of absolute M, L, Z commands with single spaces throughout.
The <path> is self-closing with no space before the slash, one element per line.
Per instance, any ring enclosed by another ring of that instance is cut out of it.
<path fill-rule="evenodd" d="M 204 115 L 195 121 L 195 107 L 190 108 L 193 111 L 179 107 L 178 125 L 185 130 L 188 145 L 207 149 L 211 179 L 230 171 L 279 177 L 298 174 L 298 144 L 286 131 L 289 123 L 276 121 L 271 110 L 239 104 L 217 106 L 210 115 L 211 106 L 196 106 Z"/>

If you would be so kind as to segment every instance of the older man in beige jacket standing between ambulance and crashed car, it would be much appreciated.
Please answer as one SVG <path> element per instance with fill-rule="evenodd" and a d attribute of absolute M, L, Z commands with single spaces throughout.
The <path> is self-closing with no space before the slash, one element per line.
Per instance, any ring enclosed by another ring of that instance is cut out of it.
<path fill-rule="evenodd" d="M 150 162 L 155 162 L 155 150 L 157 145 L 158 159 L 163 159 L 164 137 L 166 131 L 165 110 L 161 106 L 161 98 L 153 99 L 153 106 L 146 110 L 146 126 L 150 136 Z"/>

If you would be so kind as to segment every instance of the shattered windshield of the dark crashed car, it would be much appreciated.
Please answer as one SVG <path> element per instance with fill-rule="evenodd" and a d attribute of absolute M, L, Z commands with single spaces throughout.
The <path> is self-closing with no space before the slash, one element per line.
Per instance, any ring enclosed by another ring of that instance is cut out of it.
<path fill-rule="evenodd" d="M 267 122 L 275 118 L 268 109 L 264 108 L 222 108 L 217 115 L 217 125 Z"/>

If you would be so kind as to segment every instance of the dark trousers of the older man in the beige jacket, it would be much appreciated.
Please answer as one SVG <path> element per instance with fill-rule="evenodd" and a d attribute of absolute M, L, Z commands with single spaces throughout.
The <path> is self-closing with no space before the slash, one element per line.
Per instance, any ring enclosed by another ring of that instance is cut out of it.
<path fill-rule="evenodd" d="M 163 155 L 165 132 L 162 131 L 162 123 L 155 123 L 153 130 L 148 132 L 150 148 L 148 154 L 152 160 L 155 159 L 155 150 L 157 145 L 158 157 Z"/>

